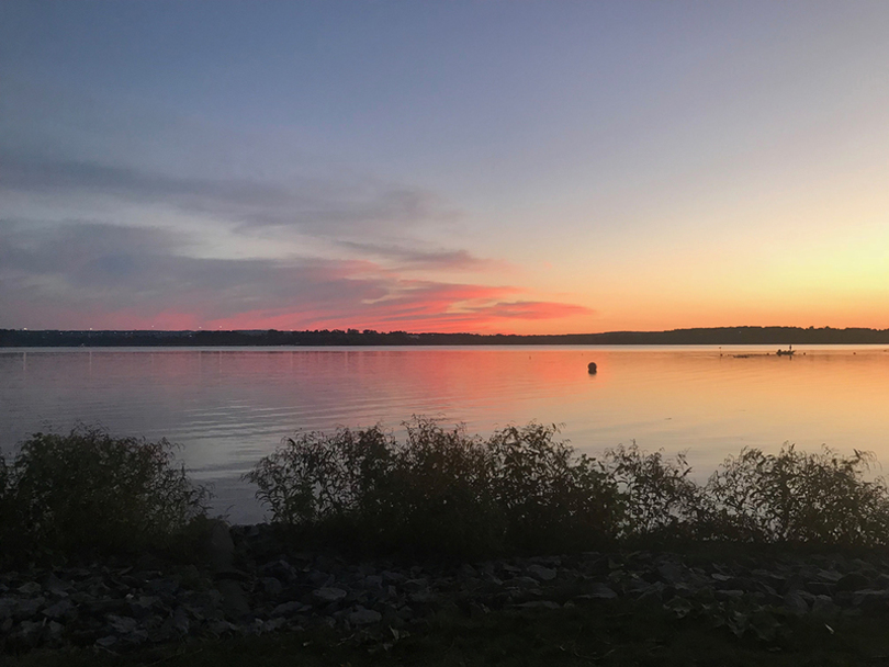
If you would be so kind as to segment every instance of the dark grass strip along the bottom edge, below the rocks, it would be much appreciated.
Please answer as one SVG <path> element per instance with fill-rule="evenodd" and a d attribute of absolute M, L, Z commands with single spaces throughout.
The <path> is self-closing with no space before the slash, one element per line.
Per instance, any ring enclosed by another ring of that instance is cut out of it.
<path fill-rule="evenodd" d="M 663 609 L 608 601 L 543 611 L 494 611 L 470 617 L 440 614 L 414 634 L 396 638 L 329 632 L 290 633 L 191 642 L 112 655 L 94 649 L 41 651 L 9 658 L 10 667 L 226 667 L 243 664 L 373 667 L 423 665 L 860 666 L 889 663 L 889 620 L 842 618 L 828 628 L 813 617 L 791 618 L 772 642 L 738 637 L 701 619 L 676 619 Z"/>

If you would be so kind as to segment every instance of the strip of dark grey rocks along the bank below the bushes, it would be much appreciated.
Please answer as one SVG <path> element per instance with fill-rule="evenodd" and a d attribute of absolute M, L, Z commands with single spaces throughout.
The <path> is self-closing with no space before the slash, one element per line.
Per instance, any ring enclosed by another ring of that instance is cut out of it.
<path fill-rule="evenodd" d="M 0 573 L 0 653 L 146 645 L 300 632 L 397 638 L 430 614 L 627 600 L 764 641 L 788 617 L 889 611 L 889 557 L 588 552 L 472 565 L 356 563 L 294 553 L 268 525 L 217 522 L 201 567 L 133 564 Z"/>

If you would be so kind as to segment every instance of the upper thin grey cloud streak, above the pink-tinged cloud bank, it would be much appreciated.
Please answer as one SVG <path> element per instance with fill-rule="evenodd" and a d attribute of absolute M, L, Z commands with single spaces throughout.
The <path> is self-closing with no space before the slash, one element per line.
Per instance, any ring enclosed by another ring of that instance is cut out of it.
<path fill-rule="evenodd" d="M 92 195 L 173 207 L 241 228 L 288 227 L 322 236 L 403 230 L 453 219 L 441 199 L 420 188 L 371 178 L 291 178 L 288 182 L 180 177 L 91 160 L 0 154 L 0 192 Z"/>

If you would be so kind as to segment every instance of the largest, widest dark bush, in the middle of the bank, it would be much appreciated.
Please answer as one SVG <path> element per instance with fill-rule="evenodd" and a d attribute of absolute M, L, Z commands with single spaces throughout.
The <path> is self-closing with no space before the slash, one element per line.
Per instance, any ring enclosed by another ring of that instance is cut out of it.
<path fill-rule="evenodd" d="M 428 419 L 396 441 L 375 426 L 286 439 L 246 479 L 278 523 L 374 551 L 489 555 L 563 549 L 610 533 L 615 493 L 555 427 L 487 441 Z"/>

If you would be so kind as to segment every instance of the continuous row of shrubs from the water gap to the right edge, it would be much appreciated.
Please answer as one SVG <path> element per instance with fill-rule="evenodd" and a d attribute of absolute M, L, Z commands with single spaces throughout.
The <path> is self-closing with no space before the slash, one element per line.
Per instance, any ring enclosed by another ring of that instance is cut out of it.
<path fill-rule="evenodd" d="M 286 439 L 246 475 L 272 520 L 339 545 L 484 556 L 690 541 L 874 546 L 889 542 L 889 489 L 873 456 L 743 450 L 705 485 L 685 455 L 635 443 L 577 455 L 555 426 L 487 439 L 415 418 Z"/>

